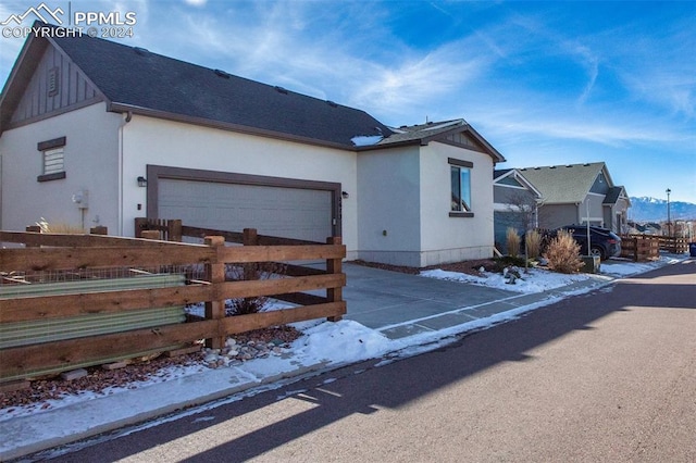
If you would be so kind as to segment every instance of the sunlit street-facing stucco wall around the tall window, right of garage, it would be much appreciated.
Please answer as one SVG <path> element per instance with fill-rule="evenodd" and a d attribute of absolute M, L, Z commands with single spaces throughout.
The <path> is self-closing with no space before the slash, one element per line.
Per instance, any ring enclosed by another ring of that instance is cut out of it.
<path fill-rule="evenodd" d="M 473 163 L 473 217 L 450 217 L 448 158 Z M 493 256 L 493 159 L 488 154 L 431 142 L 421 148 L 421 266 Z"/>

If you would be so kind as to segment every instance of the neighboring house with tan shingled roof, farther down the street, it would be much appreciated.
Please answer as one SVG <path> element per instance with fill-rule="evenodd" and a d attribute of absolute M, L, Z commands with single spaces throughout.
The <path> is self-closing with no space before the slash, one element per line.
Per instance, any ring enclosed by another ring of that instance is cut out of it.
<path fill-rule="evenodd" d="M 616 186 L 604 162 L 519 168 L 540 192 L 538 226 L 556 228 L 584 224 L 626 229 L 631 201 L 624 187 Z"/>

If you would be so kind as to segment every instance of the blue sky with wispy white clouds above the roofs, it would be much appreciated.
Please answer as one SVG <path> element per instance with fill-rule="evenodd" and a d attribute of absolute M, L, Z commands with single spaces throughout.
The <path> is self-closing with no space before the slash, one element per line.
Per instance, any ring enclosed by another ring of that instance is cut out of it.
<path fill-rule="evenodd" d="M 39 3 L 3 1 L 0 21 Z M 604 161 L 630 196 L 696 202 L 696 1 L 46 4 L 135 12 L 119 41 L 387 125 L 463 117 L 499 168 Z M 0 40 L 4 83 L 23 40 Z"/>

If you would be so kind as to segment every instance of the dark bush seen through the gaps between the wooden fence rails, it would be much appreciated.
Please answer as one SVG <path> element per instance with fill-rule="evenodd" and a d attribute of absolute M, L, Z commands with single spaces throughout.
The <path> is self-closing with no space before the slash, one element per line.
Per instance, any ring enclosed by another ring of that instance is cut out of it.
<path fill-rule="evenodd" d="M 287 265 L 279 262 L 254 262 L 244 265 L 227 265 L 226 280 L 249 281 L 281 278 L 287 273 Z M 247 315 L 261 312 L 269 302 L 265 296 L 231 299 L 225 304 L 227 315 Z"/>

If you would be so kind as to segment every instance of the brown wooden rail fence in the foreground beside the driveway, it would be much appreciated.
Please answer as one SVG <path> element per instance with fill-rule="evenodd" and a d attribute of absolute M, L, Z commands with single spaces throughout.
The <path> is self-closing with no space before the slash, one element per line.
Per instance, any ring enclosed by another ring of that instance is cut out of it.
<path fill-rule="evenodd" d="M 346 313 L 343 287 L 346 276 L 341 260 L 346 248 L 340 238 L 325 245 L 258 245 L 256 230 L 241 234 L 252 246 L 226 247 L 222 236 L 208 236 L 203 245 L 187 245 L 140 238 L 99 235 L 61 235 L 0 232 L 0 242 L 23 243 L 24 248 L 0 250 L 0 277 L 16 283 L 16 275 L 41 272 L 85 273 L 104 267 L 141 268 L 200 267 L 204 277 L 185 286 L 149 289 L 104 290 L 60 296 L 0 299 L 0 324 L 46 321 L 90 314 L 141 311 L 204 302 L 204 320 L 82 337 L 0 350 L 0 383 L 34 376 L 40 372 L 69 371 L 75 365 L 102 363 L 101 359 L 129 359 L 142 352 L 191 345 L 206 339 L 221 348 L 228 335 L 293 322 L 326 317 L 338 321 Z M 271 279 L 228 280 L 226 265 L 259 262 L 323 260 L 326 270 L 293 266 L 287 275 Z M 12 281 L 8 278 L 14 278 Z M 304 291 L 325 290 L 325 297 Z M 225 316 L 227 299 L 270 297 L 298 304 L 293 309 Z"/>

